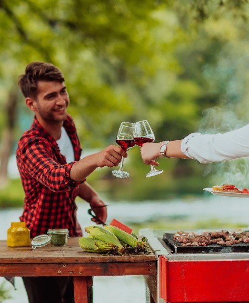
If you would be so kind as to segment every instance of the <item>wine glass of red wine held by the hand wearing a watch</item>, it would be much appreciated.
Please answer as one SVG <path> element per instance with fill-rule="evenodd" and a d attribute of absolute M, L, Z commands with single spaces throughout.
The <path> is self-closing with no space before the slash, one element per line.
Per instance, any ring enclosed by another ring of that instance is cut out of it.
<path fill-rule="evenodd" d="M 134 142 L 137 146 L 142 146 L 143 143 L 153 142 L 155 136 L 147 120 L 138 121 L 134 123 Z M 153 165 L 150 165 L 150 172 L 146 177 L 151 177 L 163 173 L 162 169 L 155 169 Z"/>

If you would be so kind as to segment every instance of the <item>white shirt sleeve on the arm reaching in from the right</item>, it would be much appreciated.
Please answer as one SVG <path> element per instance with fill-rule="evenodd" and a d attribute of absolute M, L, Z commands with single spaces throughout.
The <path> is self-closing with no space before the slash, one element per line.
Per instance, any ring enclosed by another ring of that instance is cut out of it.
<path fill-rule="evenodd" d="M 191 133 L 181 143 L 181 151 L 200 163 L 223 162 L 249 156 L 249 124 L 226 133 Z"/>

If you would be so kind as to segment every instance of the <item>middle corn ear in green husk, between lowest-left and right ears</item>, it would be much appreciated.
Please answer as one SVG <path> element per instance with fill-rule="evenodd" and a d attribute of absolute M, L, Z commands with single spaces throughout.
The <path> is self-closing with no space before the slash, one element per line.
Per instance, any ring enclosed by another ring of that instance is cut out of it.
<path fill-rule="evenodd" d="M 123 245 L 120 243 L 119 239 L 112 232 L 105 229 L 104 227 L 92 225 L 85 227 L 85 231 L 88 232 L 95 239 L 104 241 L 106 243 L 112 243 L 121 249 L 124 248 Z"/>

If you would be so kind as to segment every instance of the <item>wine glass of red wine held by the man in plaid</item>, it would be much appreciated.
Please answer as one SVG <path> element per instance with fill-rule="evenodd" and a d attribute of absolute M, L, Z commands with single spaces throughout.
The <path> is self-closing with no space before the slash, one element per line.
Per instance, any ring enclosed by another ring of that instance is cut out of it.
<path fill-rule="evenodd" d="M 117 144 L 127 151 L 129 148 L 135 146 L 134 137 L 133 137 L 133 123 L 122 122 L 116 137 Z M 124 157 L 120 164 L 120 169 L 117 171 L 112 171 L 112 174 L 118 178 L 127 178 L 129 174 L 123 171 Z"/>

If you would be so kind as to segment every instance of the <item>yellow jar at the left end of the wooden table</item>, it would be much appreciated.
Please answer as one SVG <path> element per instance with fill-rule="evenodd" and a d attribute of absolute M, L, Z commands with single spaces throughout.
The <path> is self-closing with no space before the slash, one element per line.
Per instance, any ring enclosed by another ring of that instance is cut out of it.
<path fill-rule="evenodd" d="M 7 246 L 30 246 L 30 231 L 25 222 L 11 222 L 11 226 L 7 230 Z"/>

